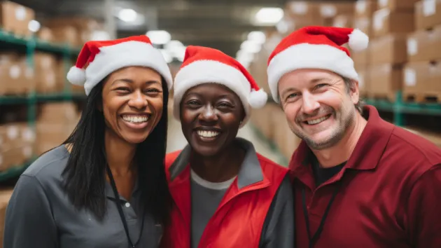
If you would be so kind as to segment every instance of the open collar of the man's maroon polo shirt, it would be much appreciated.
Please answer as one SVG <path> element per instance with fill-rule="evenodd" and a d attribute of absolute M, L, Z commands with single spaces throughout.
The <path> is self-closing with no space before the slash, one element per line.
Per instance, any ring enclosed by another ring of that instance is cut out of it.
<path fill-rule="evenodd" d="M 360 139 L 358 139 L 351 157 L 344 166 L 346 169 L 372 170 L 377 167 L 395 127 L 381 119 L 374 106 L 365 106 L 364 112 L 367 125 Z M 307 144 L 303 141 L 300 142 L 290 160 L 289 167 L 293 177 L 300 177 L 309 170 L 312 156 L 314 156 L 314 153 L 312 153 Z"/>

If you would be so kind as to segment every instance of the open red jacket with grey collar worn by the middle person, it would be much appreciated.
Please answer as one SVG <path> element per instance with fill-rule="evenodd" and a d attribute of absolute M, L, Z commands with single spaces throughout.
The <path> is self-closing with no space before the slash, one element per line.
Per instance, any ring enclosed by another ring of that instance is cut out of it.
<path fill-rule="evenodd" d="M 248 151 L 238 177 L 226 191 L 200 238 L 200 248 L 292 248 L 293 192 L 288 170 Z M 191 247 L 190 147 L 169 153 L 166 172 L 175 205 L 165 228 L 163 248 Z M 281 186 L 283 185 L 283 187 Z"/>

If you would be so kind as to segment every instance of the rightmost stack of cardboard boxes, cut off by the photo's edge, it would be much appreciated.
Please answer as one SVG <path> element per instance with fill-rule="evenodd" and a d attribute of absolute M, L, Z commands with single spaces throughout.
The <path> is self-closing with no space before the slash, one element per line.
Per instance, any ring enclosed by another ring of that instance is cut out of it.
<path fill-rule="evenodd" d="M 403 97 L 441 102 L 441 1 L 418 1 L 414 20 L 416 31 L 407 39 L 409 63 L 404 70 Z"/>

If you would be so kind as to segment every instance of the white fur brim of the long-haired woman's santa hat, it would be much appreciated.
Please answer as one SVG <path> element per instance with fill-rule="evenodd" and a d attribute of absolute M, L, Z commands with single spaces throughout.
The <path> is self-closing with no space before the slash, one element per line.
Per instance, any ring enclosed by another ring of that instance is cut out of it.
<path fill-rule="evenodd" d="M 151 44 L 140 41 L 127 41 L 113 46 L 104 46 L 95 56 L 93 62 L 85 69 L 85 93 L 89 95 L 92 88 L 113 71 L 123 67 L 149 67 L 158 71 L 167 82 L 170 90 L 173 86 L 172 73 L 162 53 Z"/>

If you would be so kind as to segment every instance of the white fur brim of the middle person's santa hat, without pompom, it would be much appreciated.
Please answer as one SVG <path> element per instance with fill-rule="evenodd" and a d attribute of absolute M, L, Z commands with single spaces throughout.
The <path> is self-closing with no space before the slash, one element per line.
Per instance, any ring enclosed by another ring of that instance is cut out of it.
<path fill-rule="evenodd" d="M 214 60 L 199 60 L 188 64 L 178 71 L 174 78 L 173 89 L 174 117 L 179 120 L 181 100 L 187 90 L 203 83 L 225 85 L 239 96 L 246 113 L 246 117 L 241 123 L 241 127 L 244 126 L 251 112 L 248 102 L 251 85 L 241 71 L 230 67 L 228 64 Z"/>

